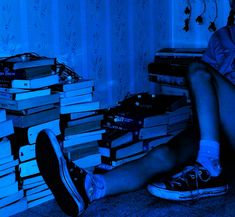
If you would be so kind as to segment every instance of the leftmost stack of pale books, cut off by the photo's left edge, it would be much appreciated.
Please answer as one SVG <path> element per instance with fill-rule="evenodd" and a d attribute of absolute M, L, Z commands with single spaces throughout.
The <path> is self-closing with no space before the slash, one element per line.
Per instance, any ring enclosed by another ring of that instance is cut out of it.
<path fill-rule="evenodd" d="M 0 109 L 0 128 L 0 216 L 9 216 L 26 210 L 27 201 L 16 179 L 19 160 L 14 158 L 9 140 L 14 128 L 4 109 Z"/>

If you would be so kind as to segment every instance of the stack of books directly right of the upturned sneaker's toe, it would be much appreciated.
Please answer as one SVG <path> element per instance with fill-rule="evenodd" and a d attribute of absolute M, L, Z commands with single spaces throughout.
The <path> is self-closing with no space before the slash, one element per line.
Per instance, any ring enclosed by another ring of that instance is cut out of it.
<path fill-rule="evenodd" d="M 60 94 L 60 129 L 63 151 L 69 160 L 80 167 L 91 169 L 100 164 L 98 140 L 103 115 L 98 112 L 98 101 L 93 101 L 94 81 L 80 79 L 53 87 Z"/>

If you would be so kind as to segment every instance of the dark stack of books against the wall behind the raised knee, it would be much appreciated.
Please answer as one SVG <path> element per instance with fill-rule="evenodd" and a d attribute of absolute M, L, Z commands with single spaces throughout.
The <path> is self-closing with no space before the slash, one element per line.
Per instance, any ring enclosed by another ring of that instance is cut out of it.
<path fill-rule="evenodd" d="M 190 102 L 186 85 L 188 65 L 200 60 L 203 48 L 163 48 L 156 52 L 148 65 L 149 79 L 160 85 L 160 94 L 185 95 Z"/>

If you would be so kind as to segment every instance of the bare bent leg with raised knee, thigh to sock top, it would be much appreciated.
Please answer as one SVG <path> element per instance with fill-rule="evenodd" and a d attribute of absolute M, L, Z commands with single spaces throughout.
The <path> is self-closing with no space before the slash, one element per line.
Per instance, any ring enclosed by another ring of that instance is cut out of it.
<path fill-rule="evenodd" d="M 189 70 L 201 138 L 218 140 L 221 129 L 235 148 L 235 86 L 205 64 Z"/>

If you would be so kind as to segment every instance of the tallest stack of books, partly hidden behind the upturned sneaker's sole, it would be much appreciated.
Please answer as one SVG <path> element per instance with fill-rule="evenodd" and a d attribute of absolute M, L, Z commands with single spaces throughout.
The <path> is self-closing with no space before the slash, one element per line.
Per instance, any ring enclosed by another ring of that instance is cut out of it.
<path fill-rule="evenodd" d="M 43 180 L 34 185 L 32 180 L 40 178 L 35 160 L 38 133 L 49 128 L 60 134 L 59 94 L 50 88 L 59 83 L 59 75 L 53 58 L 20 56 L 0 62 L 0 67 L 0 108 L 6 109 L 7 119 L 13 122 L 12 151 L 20 159 L 17 178 L 32 207 L 52 198 L 47 186 L 42 187 Z"/>

